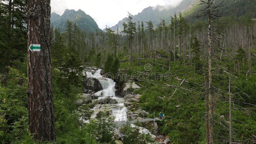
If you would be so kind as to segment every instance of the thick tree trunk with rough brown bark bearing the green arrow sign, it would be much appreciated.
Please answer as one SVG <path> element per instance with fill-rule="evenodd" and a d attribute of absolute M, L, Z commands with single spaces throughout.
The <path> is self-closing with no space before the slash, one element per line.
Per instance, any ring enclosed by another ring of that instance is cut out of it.
<path fill-rule="evenodd" d="M 56 141 L 51 75 L 50 0 L 28 0 L 28 127 L 36 140 Z M 30 44 L 41 44 L 31 52 Z"/>

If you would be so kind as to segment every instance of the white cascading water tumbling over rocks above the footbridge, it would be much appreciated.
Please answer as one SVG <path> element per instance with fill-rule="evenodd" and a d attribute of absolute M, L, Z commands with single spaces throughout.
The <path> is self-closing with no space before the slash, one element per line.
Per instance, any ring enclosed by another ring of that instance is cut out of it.
<path fill-rule="evenodd" d="M 106 107 L 109 107 L 112 110 L 112 115 L 115 117 L 115 121 L 127 121 L 127 108 L 124 106 L 124 99 L 123 98 L 118 98 L 116 97 L 115 94 L 115 82 L 110 79 L 110 78 L 106 78 L 103 77 L 102 75 L 100 75 L 100 71 L 101 69 L 98 69 L 94 74 L 92 74 L 92 72 L 87 71 L 86 75 L 87 77 L 94 77 L 97 78 L 103 88 L 103 90 L 94 93 L 94 95 L 100 96 L 98 98 L 98 100 L 103 99 L 107 96 L 111 96 L 112 99 L 116 99 L 116 101 L 118 102 L 118 104 L 105 104 Z M 99 112 L 100 108 L 99 107 L 94 107 L 94 114 L 91 116 L 91 118 L 95 118 L 96 114 Z"/>

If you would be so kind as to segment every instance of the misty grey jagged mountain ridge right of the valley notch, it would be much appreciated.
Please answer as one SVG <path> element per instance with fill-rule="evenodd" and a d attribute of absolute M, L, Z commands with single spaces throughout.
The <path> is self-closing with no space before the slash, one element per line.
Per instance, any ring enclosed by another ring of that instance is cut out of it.
<path fill-rule="evenodd" d="M 193 7 L 196 3 L 197 0 L 183 0 L 177 7 L 173 7 L 171 5 L 157 5 L 156 7 L 150 6 L 142 10 L 142 12 L 138 13 L 137 15 L 132 15 L 133 22 L 137 23 L 138 21 L 146 22 L 148 20 L 151 20 L 153 25 L 156 26 L 160 23 L 161 20 L 165 20 L 166 24 L 169 24 L 171 16 L 173 16 L 175 12 L 177 14 L 179 14 L 179 12 L 184 12 L 187 9 Z M 117 31 L 118 27 L 119 31 L 122 31 L 124 29 L 123 23 L 124 21 L 127 21 L 126 19 L 127 17 L 123 20 L 120 20 L 118 24 L 111 27 L 111 29 Z"/>

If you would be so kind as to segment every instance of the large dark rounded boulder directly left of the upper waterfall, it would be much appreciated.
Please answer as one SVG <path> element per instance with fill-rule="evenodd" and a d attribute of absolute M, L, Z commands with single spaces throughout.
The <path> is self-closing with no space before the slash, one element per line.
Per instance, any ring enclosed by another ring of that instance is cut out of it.
<path fill-rule="evenodd" d="M 103 90 L 100 81 L 94 77 L 89 77 L 86 79 L 86 81 L 84 82 L 84 87 L 86 89 L 90 89 L 93 91 L 101 91 Z"/>

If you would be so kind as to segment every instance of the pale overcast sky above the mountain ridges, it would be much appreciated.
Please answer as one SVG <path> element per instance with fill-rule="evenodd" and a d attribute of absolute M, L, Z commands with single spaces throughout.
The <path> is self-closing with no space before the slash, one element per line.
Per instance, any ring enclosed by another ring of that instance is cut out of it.
<path fill-rule="evenodd" d="M 114 26 L 127 17 L 138 14 L 148 6 L 177 6 L 182 0 L 51 0 L 52 12 L 62 15 L 65 9 L 81 9 L 90 15 L 101 29 Z"/>

